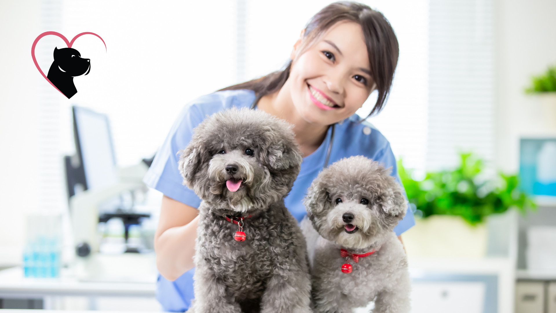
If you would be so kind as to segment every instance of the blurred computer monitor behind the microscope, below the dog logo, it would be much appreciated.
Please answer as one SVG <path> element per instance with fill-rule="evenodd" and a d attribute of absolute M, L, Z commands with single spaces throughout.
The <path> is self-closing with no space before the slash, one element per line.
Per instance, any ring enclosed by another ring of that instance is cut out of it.
<path fill-rule="evenodd" d="M 101 189 L 118 181 L 108 117 L 80 106 L 72 110 L 76 154 L 66 156 L 68 197 L 78 189 Z"/>

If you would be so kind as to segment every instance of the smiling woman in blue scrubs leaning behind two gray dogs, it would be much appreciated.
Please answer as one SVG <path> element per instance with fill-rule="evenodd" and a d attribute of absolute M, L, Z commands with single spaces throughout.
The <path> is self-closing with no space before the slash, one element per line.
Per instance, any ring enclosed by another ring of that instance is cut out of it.
<path fill-rule="evenodd" d="M 187 146 L 192 129 L 207 115 L 236 107 L 264 110 L 294 125 L 304 154 L 301 172 L 285 198 L 299 220 L 302 199 L 312 180 L 341 158 L 365 155 L 391 167 L 399 182 L 394 154 L 384 136 L 358 110 L 378 91 L 371 114 L 378 113 L 389 94 L 398 62 L 398 41 L 389 22 L 377 11 L 354 2 L 337 2 L 311 18 L 295 42 L 285 70 L 227 87 L 187 104 L 145 177 L 164 197 L 155 235 L 158 300 L 167 311 L 187 310 L 193 298 L 193 255 L 197 207 L 201 200 L 182 185 L 177 152 Z M 414 225 L 408 209 L 394 229 Z"/>

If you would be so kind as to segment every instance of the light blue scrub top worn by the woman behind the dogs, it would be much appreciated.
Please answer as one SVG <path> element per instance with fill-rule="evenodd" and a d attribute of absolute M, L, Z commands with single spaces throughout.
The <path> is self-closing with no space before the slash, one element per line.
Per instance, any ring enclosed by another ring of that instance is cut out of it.
<path fill-rule="evenodd" d="M 234 106 L 250 107 L 254 100 L 255 93 L 251 90 L 226 90 L 201 96 L 187 104 L 172 125 L 170 134 L 158 150 L 143 181 L 148 187 L 159 190 L 167 197 L 198 208 L 201 199 L 193 190 L 182 185 L 183 179 L 178 170 L 178 151 L 187 146 L 191 140 L 193 128 L 200 124 L 206 116 Z M 354 114 L 336 124 L 329 164 L 348 156 L 364 155 L 383 163 L 386 168 L 391 167 L 391 175 L 399 183 L 396 159 L 390 143 L 372 124 L 367 121 L 358 123 L 360 120 L 361 118 Z M 326 138 L 319 148 L 303 158 L 300 173 L 291 192 L 284 200 L 286 207 L 297 221 L 301 221 L 306 215 L 302 200 L 312 180 L 324 166 L 326 151 L 330 144 L 331 129 L 329 128 Z M 405 217 L 394 228 L 394 231 L 399 235 L 414 224 L 413 212 L 408 206 Z M 195 268 L 184 273 L 173 282 L 158 275 L 157 299 L 166 311 L 183 312 L 188 309 L 193 299 L 194 270 Z"/>

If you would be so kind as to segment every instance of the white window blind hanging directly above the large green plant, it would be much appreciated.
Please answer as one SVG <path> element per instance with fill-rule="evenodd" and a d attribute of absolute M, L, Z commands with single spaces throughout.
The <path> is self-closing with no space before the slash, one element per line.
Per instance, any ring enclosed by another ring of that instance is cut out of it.
<path fill-rule="evenodd" d="M 459 162 L 472 151 L 494 160 L 492 0 L 430 0 L 426 167 Z"/>

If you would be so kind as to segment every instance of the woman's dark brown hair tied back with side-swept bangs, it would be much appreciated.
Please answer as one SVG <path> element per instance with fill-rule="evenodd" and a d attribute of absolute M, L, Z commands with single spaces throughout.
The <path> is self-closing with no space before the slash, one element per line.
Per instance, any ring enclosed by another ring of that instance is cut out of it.
<path fill-rule="evenodd" d="M 311 18 L 305 27 L 304 48 L 310 46 L 320 38 L 326 30 L 340 21 L 353 21 L 361 25 L 365 44 L 369 54 L 371 77 L 378 90 L 378 99 L 369 116 L 379 113 L 383 108 L 390 92 L 394 71 L 398 64 L 399 46 L 398 39 L 388 20 L 382 13 L 371 9 L 365 4 L 357 2 L 334 2 L 321 9 Z M 290 76 L 292 60 L 286 63 L 284 70 L 272 72 L 258 79 L 242 82 L 241 84 L 226 87 L 221 90 L 250 89 L 255 91 L 257 103 L 261 97 L 280 90 Z M 220 90 L 219 90 L 220 91 Z"/>

